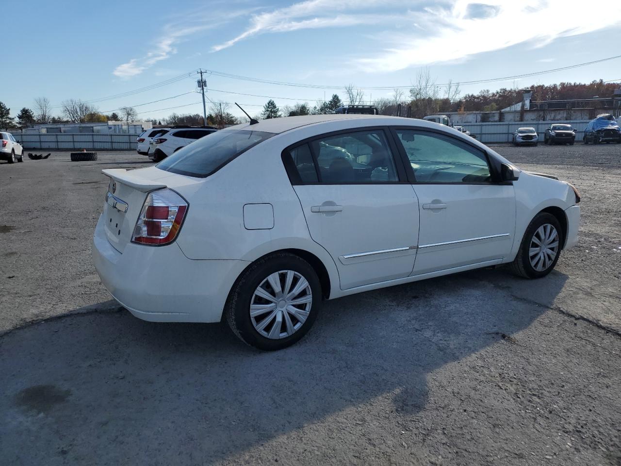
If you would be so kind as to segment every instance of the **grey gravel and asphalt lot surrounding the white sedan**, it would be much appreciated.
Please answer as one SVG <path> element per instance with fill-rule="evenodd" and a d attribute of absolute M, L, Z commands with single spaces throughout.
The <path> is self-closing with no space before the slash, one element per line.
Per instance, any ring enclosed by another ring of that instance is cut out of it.
<path fill-rule="evenodd" d="M 555 272 L 329 301 L 276 353 L 104 290 L 100 171 L 145 157 L 0 162 L 0 464 L 620 465 L 621 145 L 494 149 L 582 193 Z"/>

